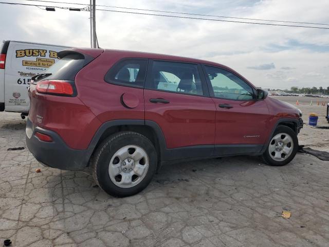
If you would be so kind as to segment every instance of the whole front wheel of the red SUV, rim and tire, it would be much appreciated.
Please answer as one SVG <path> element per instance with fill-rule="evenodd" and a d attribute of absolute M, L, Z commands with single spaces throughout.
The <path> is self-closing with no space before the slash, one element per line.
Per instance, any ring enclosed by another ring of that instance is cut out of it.
<path fill-rule="evenodd" d="M 279 126 L 262 157 L 270 166 L 284 166 L 295 157 L 298 151 L 298 138 L 295 131 L 286 126 Z"/>

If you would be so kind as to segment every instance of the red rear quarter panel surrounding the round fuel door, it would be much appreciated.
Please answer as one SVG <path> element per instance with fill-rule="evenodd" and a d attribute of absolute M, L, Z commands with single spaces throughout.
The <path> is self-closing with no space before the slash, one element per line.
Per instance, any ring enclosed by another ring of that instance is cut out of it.
<path fill-rule="evenodd" d="M 106 54 L 105 51 L 82 68 L 75 78 L 78 97 L 102 123 L 115 119 L 144 119 L 143 89 L 104 81 L 108 69 L 124 57 L 121 54 Z M 121 96 L 125 93 L 135 95 L 138 101 L 135 108 L 126 108 L 121 103 Z"/>

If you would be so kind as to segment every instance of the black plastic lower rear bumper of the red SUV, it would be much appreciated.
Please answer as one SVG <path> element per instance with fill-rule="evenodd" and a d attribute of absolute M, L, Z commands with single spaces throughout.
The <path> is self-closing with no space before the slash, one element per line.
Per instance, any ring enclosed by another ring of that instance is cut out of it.
<path fill-rule="evenodd" d="M 43 142 L 34 135 L 35 131 L 51 136 L 53 142 Z M 93 149 L 69 148 L 56 132 L 40 127 L 33 128 L 29 119 L 26 123 L 26 145 L 37 161 L 45 166 L 61 170 L 84 170 L 93 153 Z"/>

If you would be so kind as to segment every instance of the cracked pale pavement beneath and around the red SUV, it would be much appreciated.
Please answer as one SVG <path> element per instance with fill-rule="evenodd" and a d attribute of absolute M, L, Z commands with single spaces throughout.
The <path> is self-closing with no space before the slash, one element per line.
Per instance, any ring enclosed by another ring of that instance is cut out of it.
<path fill-rule="evenodd" d="M 324 107 L 300 102 L 305 122 L 316 112 L 328 126 Z M 7 151 L 26 147 L 26 121 L 0 119 L 0 240 L 12 246 L 328 246 L 329 162 L 314 156 L 284 167 L 249 156 L 167 165 L 142 193 L 117 199 L 84 172 Z M 329 150 L 329 130 L 306 125 L 299 139 Z"/>

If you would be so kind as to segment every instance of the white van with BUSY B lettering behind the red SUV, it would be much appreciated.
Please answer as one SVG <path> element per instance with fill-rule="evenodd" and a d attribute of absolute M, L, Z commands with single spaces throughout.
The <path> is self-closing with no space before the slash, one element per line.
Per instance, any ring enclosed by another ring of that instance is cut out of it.
<path fill-rule="evenodd" d="M 0 111 L 29 111 L 27 88 L 31 77 L 58 61 L 57 52 L 66 46 L 22 41 L 3 41 L 0 48 Z"/>

